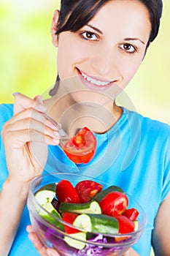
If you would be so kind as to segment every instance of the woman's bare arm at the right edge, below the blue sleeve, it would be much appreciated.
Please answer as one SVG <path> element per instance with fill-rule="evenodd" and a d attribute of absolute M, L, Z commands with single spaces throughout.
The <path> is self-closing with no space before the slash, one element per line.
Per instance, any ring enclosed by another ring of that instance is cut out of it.
<path fill-rule="evenodd" d="M 170 192 L 161 203 L 152 233 L 155 256 L 170 255 Z"/>

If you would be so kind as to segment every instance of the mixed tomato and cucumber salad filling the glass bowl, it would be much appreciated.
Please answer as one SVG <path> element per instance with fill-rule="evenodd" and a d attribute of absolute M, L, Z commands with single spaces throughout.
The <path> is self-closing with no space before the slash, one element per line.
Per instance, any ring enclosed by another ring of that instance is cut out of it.
<path fill-rule="evenodd" d="M 136 208 L 128 208 L 128 197 L 120 187 L 103 189 L 101 184 L 90 180 L 80 181 L 73 187 L 70 181 L 63 179 L 56 184 L 55 192 L 39 190 L 35 197 L 50 212 L 40 210 L 39 215 L 63 230 L 66 244 L 80 252 L 90 246 L 82 241 L 107 243 L 111 235 L 110 241 L 121 243 L 128 236 L 112 235 L 133 233 L 138 229 L 139 212 Z"/>

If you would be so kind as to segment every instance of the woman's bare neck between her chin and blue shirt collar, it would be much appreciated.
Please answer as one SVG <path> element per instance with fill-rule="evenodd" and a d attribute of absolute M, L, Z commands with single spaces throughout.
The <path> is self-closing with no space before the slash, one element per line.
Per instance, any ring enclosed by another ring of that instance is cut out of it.
<path fill-rule="evenodd" d="M 122 116 L 123 110 L 115 102 L 105 105 L 95 102 L 74 102 L 69 94 L 45 100 L 47 114 L 62 125 L 72 137 L 82 127 L 96 133 L 107 132 Z"/>

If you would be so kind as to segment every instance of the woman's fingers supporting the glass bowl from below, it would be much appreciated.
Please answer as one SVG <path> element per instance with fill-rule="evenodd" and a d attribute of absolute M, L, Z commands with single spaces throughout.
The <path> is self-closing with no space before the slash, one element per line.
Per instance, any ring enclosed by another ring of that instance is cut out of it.
<path fill-rule="evenodd" d="M 31 225 L 28 225 L 26 230 L 28 231 L 28 238 L 34 244 L 34 247 L 39 252 L 39 255 L 41 255 L 41 256 L 60 256 L 60 255 L 58 255 L 58 252 L 55 251 L 55 249 L 47 248 L 42 244 L 41 241 L 39 241 L 39 238 L 36 236 L 36 233 L 34 232 L 34 229 Z"/>

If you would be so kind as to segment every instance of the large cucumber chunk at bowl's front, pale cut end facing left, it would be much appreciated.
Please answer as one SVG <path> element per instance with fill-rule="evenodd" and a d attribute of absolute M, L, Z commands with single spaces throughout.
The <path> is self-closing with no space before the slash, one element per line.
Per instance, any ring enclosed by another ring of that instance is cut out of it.
<path fill-rule="evenodd" d="M 117 234 L 119 225 L 117 219 L 104 214 L 80 214 L 73 222 L 87 232 Z"/>

